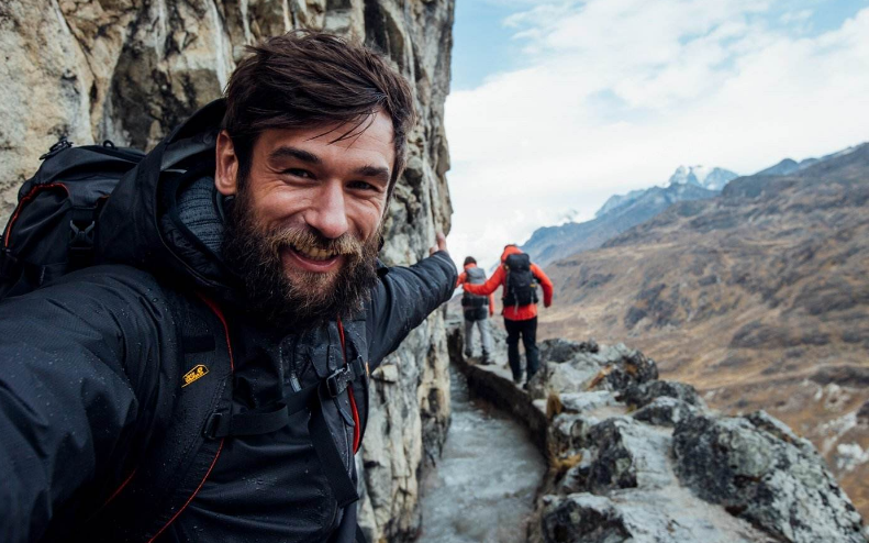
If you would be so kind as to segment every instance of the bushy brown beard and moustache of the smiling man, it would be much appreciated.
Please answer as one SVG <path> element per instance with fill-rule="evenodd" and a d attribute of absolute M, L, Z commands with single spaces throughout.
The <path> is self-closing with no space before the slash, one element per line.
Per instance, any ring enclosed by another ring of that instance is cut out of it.
<path fill-rule="evenodd" d="M 245 310 L 281 328 L 313 328 L 361 309 L 377 284 L 381 228 L 368 240 L 350 233 L 334 240 L 304 226 L 267 230 L 254 217 L 246 189 L 226 215 L 223 258 L 244 288 Z M 288 276 L 281 253 L 291 246 L 341 254 L 335 272 L 294 269 Z"/>

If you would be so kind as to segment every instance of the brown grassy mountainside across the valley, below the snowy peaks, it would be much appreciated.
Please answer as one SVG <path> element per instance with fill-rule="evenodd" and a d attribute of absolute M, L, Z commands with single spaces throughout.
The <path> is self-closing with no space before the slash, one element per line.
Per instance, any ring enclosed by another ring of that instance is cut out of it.
<path fill-rule="evenodd" d="M 869 144 L 733 179 L 546 273 L 539 337 L 623 341 L 715 408 L 769 411 L 869 517 Z"/>

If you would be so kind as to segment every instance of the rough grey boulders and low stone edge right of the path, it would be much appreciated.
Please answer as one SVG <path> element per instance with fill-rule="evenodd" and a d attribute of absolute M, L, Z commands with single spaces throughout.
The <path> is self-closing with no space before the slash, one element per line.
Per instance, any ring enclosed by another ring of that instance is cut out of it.
<path fill-rule="evenodd" d="M 525 392 L 466 361 L 450 330 L 469 386 L 525 421 L 548 459 L 531 541 L 869 541 L 814 446 L 764 411 L 723 417 L 642 353 L 594 342 L 543 342 Z"/>

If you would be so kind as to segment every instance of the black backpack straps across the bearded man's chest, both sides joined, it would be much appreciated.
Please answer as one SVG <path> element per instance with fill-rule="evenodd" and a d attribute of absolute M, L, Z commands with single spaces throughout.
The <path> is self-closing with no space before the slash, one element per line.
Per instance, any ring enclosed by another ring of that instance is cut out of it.
<path fill-rule="evenodd" d="M 182 348 L 178 375 L 171 383 L 178 392 L 168 411 L 170 420 L 94 517 L 98 522 L 88 523 L 88 535 L 98 535 L 99 541 L 155 540 L 199 492 L 226 439 L 274 432 L 303 409 L 311 411 L 309 432 L 338 506 L 357 501 L 355 477 L 344 467 L 322 408 L 323 402 L 347 391 L 353 406 L 355 452 L 367 421 L 368 402 L 368 368 L 357 339 L 352 335 L 347 342 L 353 348 L 342 342 L 345 364 L 325 379 L 293 394 L 270 411 L 233 413 L 234 361 L 230 329 L 220 307 L 205 297 L 176 295 L 172 311 Z"/>

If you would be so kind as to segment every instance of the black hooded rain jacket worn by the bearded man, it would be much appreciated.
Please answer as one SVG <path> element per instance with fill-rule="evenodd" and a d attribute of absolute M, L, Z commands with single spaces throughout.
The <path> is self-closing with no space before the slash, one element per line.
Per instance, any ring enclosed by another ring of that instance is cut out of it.
<path fill-rule="evenodd" d="M 264 435 L 202 437 L 218 402 L 268 409 L 343 365 L 335 322 L 277 330 L 239 310 L 220 258 L 213 151 L 158 174 L 171 142 L 213 145 L 222 109 L 201 110 L 121 180 L 99 219 L 101 265 L 0 302 L 0 541 L 353 541 L 356 503 L 337 506 L 308 412 Z M 456 275 L 442 252 L 381 267 L 343 323 L 347 356 L 374 370 Z M 367 395 L 353 395 L 364 418 Z M 356 481 L 352 401 L 348 388 L 323 414 Z"/>

